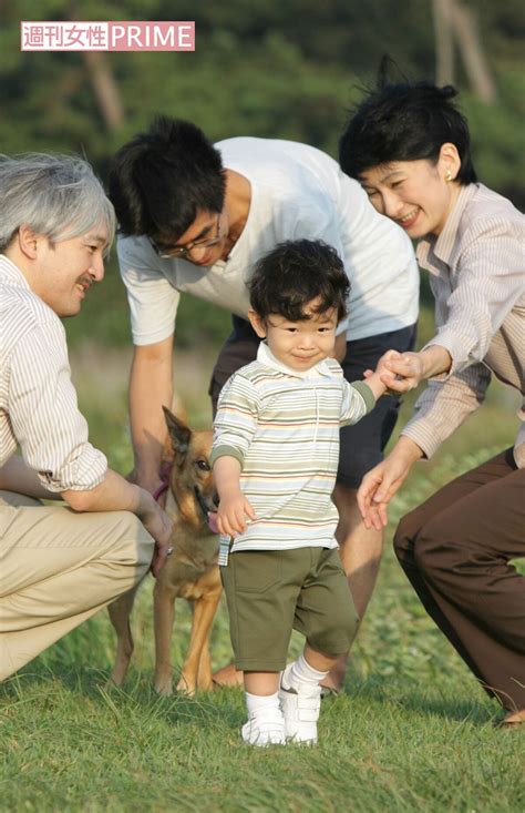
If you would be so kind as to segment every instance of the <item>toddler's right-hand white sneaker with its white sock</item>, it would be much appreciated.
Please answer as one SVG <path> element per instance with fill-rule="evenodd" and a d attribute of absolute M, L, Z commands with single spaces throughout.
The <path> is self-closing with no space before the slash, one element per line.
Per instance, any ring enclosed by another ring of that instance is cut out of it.
<path fill-rule="evenodd" d="M 289 687 L 288 678 L 291 663 L 281 672 L 279 701 L 285 718 L 285 735 L 287 740 L 309 745 L 317 743 L 317 721 L 321 708 L 321 688 Z"/>

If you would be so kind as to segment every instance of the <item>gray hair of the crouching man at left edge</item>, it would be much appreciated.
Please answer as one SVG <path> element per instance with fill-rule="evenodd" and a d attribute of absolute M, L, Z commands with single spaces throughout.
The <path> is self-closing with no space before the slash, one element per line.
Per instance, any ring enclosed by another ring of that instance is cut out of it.
<path fill-rule="evenodd" d="M 115 213 L 91 165 L 74 155 L 0 155 L 0 252 L 22 225 L 52 243 L 96 226 L 115 234 Z"/>

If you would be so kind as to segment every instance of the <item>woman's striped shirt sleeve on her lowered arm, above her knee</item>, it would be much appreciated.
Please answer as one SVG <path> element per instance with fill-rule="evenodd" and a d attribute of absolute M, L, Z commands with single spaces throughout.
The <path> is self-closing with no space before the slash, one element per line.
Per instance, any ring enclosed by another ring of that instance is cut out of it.
<path fill-rule="evenodd" d="M 432 457 L 483 404 L 490 382 L 491 372 L 483 364 L 473 364 L 443 382 L 430 380 L 401 434 L 418 444 L 425 457 Z"/>

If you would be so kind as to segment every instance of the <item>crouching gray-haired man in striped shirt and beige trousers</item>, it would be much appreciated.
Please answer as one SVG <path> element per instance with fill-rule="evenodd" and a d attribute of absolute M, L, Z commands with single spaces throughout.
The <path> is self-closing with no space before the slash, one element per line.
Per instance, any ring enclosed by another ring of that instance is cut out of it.
<path fill-rule="evenodd" d="M 0 159 L 0 680 L 168 552 L 167 516 L 87 440 L 59 318 L 103 278 L 113 235 L 87 163 Z"/>

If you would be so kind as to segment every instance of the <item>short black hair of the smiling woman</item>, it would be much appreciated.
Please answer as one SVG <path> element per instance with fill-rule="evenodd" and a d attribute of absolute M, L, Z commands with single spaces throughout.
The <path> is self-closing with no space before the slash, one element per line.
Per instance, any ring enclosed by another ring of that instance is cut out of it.
<path fill-rule="evenodd" d="M 461 159 L 456 180 L 475 183 L 469 124 L 452 99 L 457 91 L 430 82 L 384 84 L 352 112 L 339 142 L 342 171 L 359 179 L 393 161 L 436 162 L 442 144 L 455 144 Z"/>

